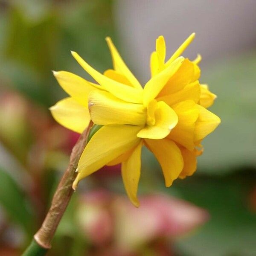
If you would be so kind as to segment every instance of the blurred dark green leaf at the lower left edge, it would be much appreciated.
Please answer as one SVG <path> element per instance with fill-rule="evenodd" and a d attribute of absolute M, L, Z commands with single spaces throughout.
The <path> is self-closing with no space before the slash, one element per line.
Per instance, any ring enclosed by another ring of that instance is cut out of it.
<path fill-rule="evenodd" d="M 15 180 L 0 167 L 0 204 L 8 218 L 23 227 L 31 235 L 35 216 L 24 191 Z"/>

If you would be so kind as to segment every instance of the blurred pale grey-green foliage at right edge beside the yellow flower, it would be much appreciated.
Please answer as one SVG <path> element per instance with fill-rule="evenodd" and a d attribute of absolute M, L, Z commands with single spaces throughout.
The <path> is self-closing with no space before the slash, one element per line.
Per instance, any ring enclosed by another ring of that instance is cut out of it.
<path fill-rule="evenodd" d="M 218 95 L 210 108 L 221 118 L 216 132 L 207 137 L 198 158 L 198 171 L 223 175 L 238 167 L 256 167 L 256 54 L 247 52 L 220 59 L 202 73 Z"/>

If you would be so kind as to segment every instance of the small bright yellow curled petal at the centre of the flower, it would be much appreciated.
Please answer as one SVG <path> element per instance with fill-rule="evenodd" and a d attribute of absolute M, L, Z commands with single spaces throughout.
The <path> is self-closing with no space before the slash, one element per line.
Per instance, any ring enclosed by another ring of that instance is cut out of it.
<path fill-rule="evenodd" d="M 163 139 L 177 125 L 177 122 L 178 117 L 175 111 L 165 102 L 157 102 L 155 124 L 146 125 L 138 132 L 137 136 L 154 140 Z"/>

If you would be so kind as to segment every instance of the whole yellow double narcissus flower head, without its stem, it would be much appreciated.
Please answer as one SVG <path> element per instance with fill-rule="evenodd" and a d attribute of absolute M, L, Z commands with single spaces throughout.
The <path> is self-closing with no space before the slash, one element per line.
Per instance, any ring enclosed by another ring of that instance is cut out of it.
<path fill-rule="evenodd" d="M 160 163 L 166 186 L 171 186 L 178 177 L 183 179 L 195 172 L 196 157 L 202 153 L 201 140 L 219 125 L 220 119 L 206 109 L 216 96 L 198 81 L 201 56 L 194 61 L 180 56 L 194 37 L 194 33 L 190 35 L 168 61 L 165 61 L 164 38 L 157 38 L 156 50 L 151 54 L 151 79 L 144 88 L 110 38 L 106 40 L 113 69 L 104 74 L 71 52 L 98 84 L 66 71 L 54 72 L 70 95 L 50 108 L 56 121 L 79 133 L 90 119 L 102 125 L 81 155 L 74 189 L 79 180 L 102 166 L 122 163 L 126 192 L 138 207 L 143 145 Z"/>

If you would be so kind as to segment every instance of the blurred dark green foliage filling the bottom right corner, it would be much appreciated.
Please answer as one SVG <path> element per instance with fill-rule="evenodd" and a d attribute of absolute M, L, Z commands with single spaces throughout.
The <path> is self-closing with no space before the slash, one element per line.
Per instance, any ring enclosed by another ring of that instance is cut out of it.
<path fill-rule="evenodd" d="M 255 175 L 244 172 L 182 181 L 175 186 L 181 198 L 207 209 L 211 216 L 199 232 L 178 241 L 182 255 L 253 256 L 256 216 L 250 206 L 250 193 Z"/>

